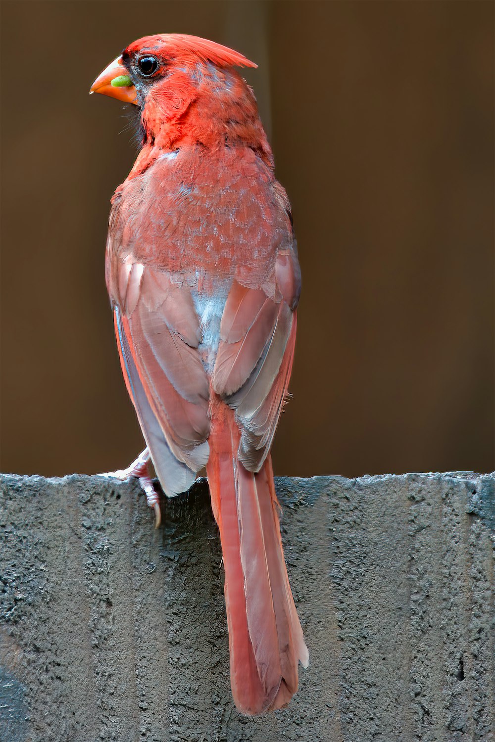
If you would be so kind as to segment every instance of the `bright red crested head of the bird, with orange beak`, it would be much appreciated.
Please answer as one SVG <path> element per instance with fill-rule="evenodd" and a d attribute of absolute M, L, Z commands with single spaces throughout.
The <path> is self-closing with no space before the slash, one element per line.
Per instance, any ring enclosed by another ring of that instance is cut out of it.
<path fill-rule="evenodd" d="M 90 92 L 137 105 L 143 143 L 171 148 L 252 139 L 256 145 L 261 137 L 266 144 L 255 96 L 235 67 L 256 65 L 197 36 L 145 36 L 102 71 Z"/>

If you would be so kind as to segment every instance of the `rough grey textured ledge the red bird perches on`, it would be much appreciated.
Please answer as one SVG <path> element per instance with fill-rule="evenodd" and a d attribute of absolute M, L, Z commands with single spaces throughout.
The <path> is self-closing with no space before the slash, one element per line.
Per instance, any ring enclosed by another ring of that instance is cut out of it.
<path fill-rule="evenodd" d="M 278 479 L 310 666 L 232 703 L 206 485 L 1 478 L 2 742 L 494 739 L 494 476 Z"/>

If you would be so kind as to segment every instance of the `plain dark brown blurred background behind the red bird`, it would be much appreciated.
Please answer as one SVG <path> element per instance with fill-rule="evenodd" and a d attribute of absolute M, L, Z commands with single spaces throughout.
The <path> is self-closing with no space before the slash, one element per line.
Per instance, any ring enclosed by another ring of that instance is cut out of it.
<path fill-rule="evenodd" d="M 494 468 L 494 4 L 1 2 L 1 469 L 122 467 L 141 450 L 104 283 L 134 161 L 88 97 L 128 42 L 180 31 L 249 82 L 303 272 L 288 475 Z"/>

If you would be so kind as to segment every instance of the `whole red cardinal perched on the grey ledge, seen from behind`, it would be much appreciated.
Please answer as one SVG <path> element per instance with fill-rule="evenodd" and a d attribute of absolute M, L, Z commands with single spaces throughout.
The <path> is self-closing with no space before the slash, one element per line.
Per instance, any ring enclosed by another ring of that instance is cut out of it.
<path fill-rule="evenodd" d="M 301 274 L 289 201 L 226 47 L 129 45 L 91 92 L 136 104 L 142 148 L 112 199 L 106 280 L 147 448 L 119 476 L 168 496 L 206 467 L 225 565 L 232 694 L 280 709 L 309 657 L 283 559 L 270 447 L 294 355 Z"/>

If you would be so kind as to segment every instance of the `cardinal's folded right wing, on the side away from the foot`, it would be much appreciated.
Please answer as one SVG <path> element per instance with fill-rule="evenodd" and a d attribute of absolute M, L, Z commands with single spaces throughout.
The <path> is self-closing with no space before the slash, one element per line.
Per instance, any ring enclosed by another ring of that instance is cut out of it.
<path fill-rule="evenodd" d="M 212 386 L 235 409 L 240 461 L 251 471 L 266 459 L 286 397 L 300 291 L 295 249 L 281 250 L 263 287 L 235 280 L 223 310 Z"/>

